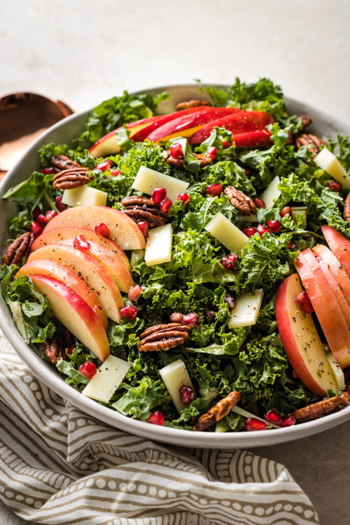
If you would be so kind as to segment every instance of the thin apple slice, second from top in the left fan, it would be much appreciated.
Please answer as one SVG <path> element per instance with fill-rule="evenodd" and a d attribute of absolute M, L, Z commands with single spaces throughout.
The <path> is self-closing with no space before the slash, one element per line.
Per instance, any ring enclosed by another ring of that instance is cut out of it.
<path fill-rule="evenodd" d="M 109 237 L 103 237 L 93 232 L 93 230 L 88 228 L 80 228 L 78 226 L 65 226 L 63 228 L 55 228 L 53 230 L 45 230 L 45 232 L 36 239 L 34 239 L 33 244 L 31 245 L 30 251 L 35 251 L 41 246 L 46 246 L 48 244 L 57 244 L 66 239 L 74 239 L 78 235 L 83 235 L 86 240 L 93 240 L 97 243 L 104 244 L 106 248 L 109 248 L 113 253 L 120 258 L 124 266 L 131 271 L 131 266 L 128 257 L 126 257 L 124 250 L 114 242 L 114 240 Z"/>

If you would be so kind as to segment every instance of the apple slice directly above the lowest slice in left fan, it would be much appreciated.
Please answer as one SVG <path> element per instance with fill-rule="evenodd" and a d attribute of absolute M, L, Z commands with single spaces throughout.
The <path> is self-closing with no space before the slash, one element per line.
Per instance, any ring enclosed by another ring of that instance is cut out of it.
<path fill-rule="evenodd" d="M 88 303 L 89 307 L 100 319 L 103 328 L 107 331 L 108 319 L 98 296 L 88 287 L 87 283 L 81 277 L 78 277 L 76 272 L 68 266 L 50 259 L 36 259 L 27 262 L 22 268 L 19 268 L 15 279 L 21 275 L 28 275 L 29 277 L 31 275 L 46 275 L 65 283 L 65 285 L 78 293 L 78 295 Z"/>

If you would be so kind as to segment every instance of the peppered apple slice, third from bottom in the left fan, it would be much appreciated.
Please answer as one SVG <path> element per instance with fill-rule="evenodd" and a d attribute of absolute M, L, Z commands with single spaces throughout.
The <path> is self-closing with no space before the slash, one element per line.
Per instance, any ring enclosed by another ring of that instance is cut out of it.
<path fill-rule="evenodd" d="M 118 286 L 116 286 L 108 271 L 95 257 L 73 246 L 57 244 L 43 246 L 33 251 L 27 262 L 37 259 L 50 259 L 61 262 L 75 270 L 87 285 L 97 293 L 107 317 L 120 323 L 119 308 L 124 306 Z"/>

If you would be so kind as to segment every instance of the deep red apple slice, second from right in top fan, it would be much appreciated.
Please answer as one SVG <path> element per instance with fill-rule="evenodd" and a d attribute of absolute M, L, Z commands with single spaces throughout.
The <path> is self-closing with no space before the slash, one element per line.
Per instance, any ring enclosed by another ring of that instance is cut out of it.
<path fill-rule="evenodd" d="M 188 143 L 197 144 L 203 142 L 216 126 L 219 128 L 225 127 L 228 131 L 231 131 L 232 135 L 240 135 L 251 131 L 263 130 L 268 124 L 273 123 L 273 117 L 264 111 L 241 111 L 209 122 L 209 124 L 206 124 L 191 135 Z"/>

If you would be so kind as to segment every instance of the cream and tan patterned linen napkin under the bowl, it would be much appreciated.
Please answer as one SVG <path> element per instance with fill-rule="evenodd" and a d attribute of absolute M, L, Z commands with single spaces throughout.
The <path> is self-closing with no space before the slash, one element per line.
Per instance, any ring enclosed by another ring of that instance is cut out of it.
<path fill-rule="evenodd" d="M 245 451 L 166 447 L 94 421 L 27 369 L 0 332 L 0 498 L 69 525 L 306 525 L 288 470 Z"/>

